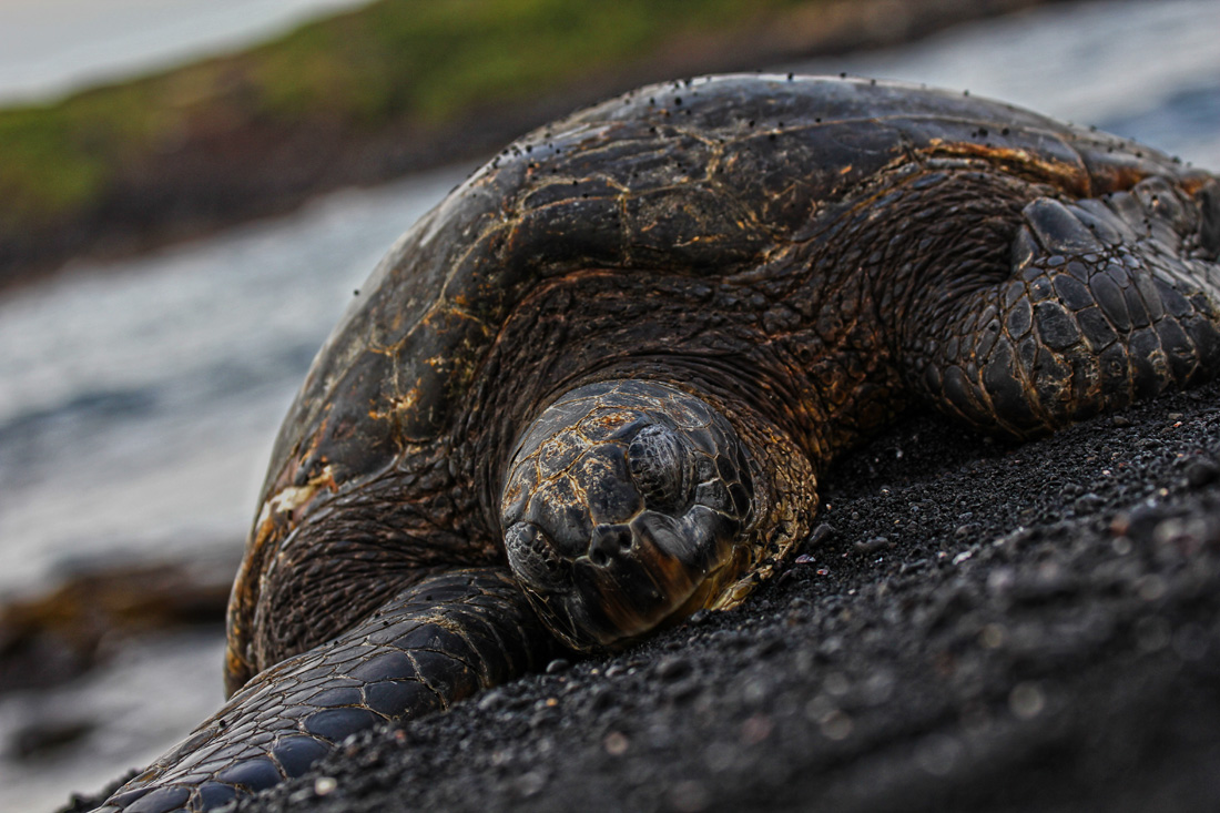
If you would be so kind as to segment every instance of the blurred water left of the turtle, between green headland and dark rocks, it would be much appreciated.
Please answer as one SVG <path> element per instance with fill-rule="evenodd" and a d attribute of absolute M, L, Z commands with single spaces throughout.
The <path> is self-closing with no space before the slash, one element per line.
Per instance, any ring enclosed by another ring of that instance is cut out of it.
<path fill-rule="evenodd" d="M 239 541 L 331 325 L 462 177 L 338 193 L 0 300 L 0 593 L 116 551 Z"/>

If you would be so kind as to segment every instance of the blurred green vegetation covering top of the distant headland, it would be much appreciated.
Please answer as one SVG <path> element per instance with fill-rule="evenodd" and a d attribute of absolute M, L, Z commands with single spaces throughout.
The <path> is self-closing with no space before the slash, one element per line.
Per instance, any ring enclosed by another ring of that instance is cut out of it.
<path fill-rule="evenodd" d="M 799 2 L 378 0 L 242 54 L 0 112 L 0 223 L 88 212 L 149 155 L 251 123 L 444 122 Z"/>

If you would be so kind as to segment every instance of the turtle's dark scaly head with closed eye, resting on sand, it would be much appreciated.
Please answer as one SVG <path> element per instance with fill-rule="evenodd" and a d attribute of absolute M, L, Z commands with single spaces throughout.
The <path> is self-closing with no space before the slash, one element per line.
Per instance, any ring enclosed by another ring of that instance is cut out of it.
<path fill-rule="evenodd" d="M 509 563 L 577 649 L 625 645 L 742 575 L 744 448 L 705 402 L 651 381 L 573 389 L 517 443 L 501 498 Z"/>

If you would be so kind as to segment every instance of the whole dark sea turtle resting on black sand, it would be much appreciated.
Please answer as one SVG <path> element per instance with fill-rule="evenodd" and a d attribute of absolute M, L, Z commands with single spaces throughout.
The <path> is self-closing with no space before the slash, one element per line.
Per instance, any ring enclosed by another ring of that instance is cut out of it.
<path fill-rule="evenodd" d="M 515 143 L 361 288 L 281 430 L 206 809 L 554 653 L 738 604 L 913 402 L 1025 438 L 1220 369 L 1220 183 L 905 84 L 655 85 Z"/>

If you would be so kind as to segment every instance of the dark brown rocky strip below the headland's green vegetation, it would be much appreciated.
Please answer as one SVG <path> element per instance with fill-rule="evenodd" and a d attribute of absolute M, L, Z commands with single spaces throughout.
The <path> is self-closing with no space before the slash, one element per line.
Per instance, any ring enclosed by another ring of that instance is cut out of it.
<path fill-rule="evenodd" d="M 6 223 L 0 211 L 0 295 L 70 275 L 73 259 L 137 256 L 293 211 L 344 187 L 377 186 L 486 157 L 548 121 L 650 82 L 893 46 L 1061 1 L 831 0 L 755 21 L 744 31 L 680 33 L 611 72 L 559 83 L 523 100 L 466 105 L 444 121 L 403 115 L 361 128 L 343 121 L 251 118 L 190 132 L 118 167 L 87 206 L 21 227 Z"/>

